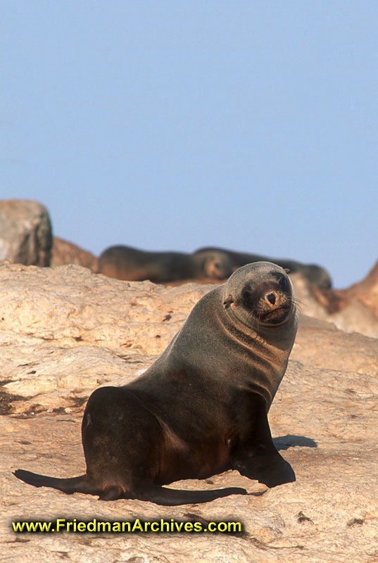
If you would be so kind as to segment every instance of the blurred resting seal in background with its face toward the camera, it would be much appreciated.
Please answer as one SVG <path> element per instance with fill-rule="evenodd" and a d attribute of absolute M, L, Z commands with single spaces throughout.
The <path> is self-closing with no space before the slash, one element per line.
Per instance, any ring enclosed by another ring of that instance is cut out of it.
<path fill-rule="evenodd" d="M 129 281 L 149 279 L 161 284 L 184 279 L 227 279 L 233 271 L 228 256 L 218 251 L 188 254 L 111 246 L 99 257 L 98 273 Z"/>

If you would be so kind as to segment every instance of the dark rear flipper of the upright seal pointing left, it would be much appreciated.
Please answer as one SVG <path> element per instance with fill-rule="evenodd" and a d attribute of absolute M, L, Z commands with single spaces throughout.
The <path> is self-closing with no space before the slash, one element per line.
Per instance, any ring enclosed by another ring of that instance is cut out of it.
<path fill-rule="evenodd" d="M 79 475 L 77 477 L 70 477 L 68 479 L 59 479 L 58 477 L 49 477 L 47 475 L 39 475 L 25 471 L 25 469 L 16 469 L 13 475 L 25 481 L 28 485 L 34 487 L 51 487 L 62 491 L 67 495 L 73 493 L 85 493 L 88 495 L 99 495 L 99 488 L 96 488 L 92 483 L 92 479 L 87 474 Z"/>

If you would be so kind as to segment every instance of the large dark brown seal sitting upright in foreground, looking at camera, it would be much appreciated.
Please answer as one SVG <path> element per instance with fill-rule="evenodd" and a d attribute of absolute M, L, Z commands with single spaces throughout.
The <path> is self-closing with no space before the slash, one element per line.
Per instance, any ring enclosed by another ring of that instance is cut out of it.
<path fill-rule="evenodd" d="M 70 479 L 15 471 L 18 479 L 103 500 L 207 502 L 244 488 L 182 491 L 163 485 L 238 469 L 269 487 L 295 481 L 277 452 L 267 412 L 297 328 L 291 281 L 256 262 L 206 293 L 162 355 L 123 387 L 89 397 L 82 420 L 87 472 Z"/>

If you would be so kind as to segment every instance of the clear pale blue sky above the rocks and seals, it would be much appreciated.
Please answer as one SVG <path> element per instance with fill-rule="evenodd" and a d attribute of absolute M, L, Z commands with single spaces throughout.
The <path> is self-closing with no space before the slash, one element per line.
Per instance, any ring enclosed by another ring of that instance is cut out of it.
<path fill-rule="evenodd" d="M 378 2 L 0 0 L 0 197 L 95 254 L 378 259 Z"/>

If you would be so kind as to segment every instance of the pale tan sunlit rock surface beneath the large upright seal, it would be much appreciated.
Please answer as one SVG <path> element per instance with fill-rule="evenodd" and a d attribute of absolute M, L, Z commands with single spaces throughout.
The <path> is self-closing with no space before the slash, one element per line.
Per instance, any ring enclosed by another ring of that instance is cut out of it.
<path fill-rule="evenodd" d="M 18 481 L 22 467 L 84 470 L 80 424 L 94 388 L 127 383 L 160 354 L 211 286 L 125 282 L 79 266 L 0 265 L 1 561 L 372 562 L 378 559 L 378 341 L 301 316 L 270 410 L 297 481 L 266 489 L 237 472 L 179 488 L 245 486 L 203 505 L 101 502 Z M 241 521 L 241 534 L 16 534 L 12 521 Z"/>

